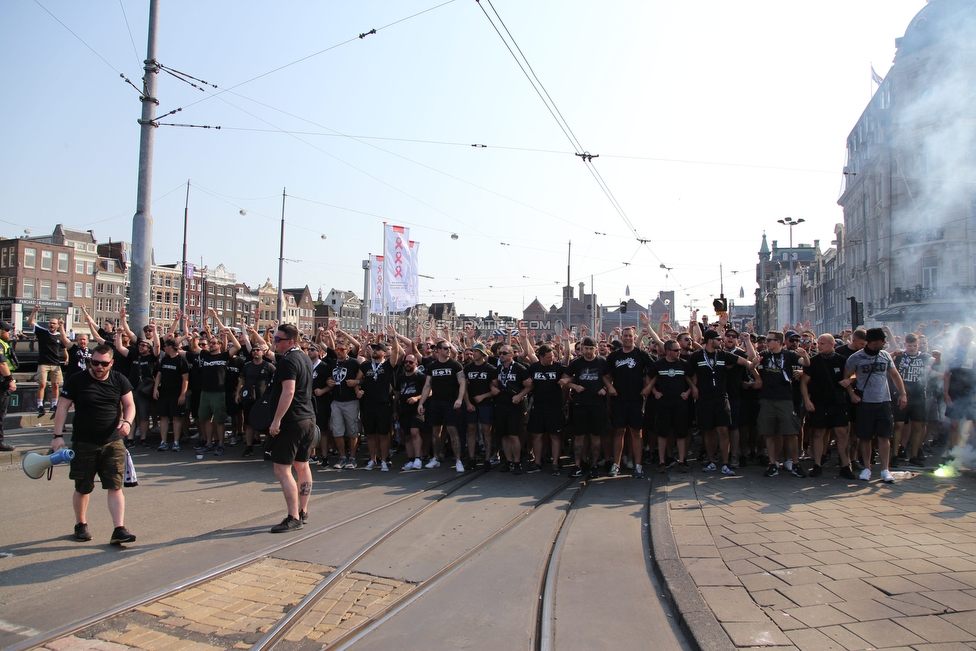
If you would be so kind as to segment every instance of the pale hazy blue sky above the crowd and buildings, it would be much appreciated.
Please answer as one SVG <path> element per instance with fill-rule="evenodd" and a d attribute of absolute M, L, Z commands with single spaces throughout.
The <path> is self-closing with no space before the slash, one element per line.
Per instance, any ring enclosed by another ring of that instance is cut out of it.
<path fill-rule="evenodd" d="M 361 293 L 388 221 L 421 243 L 421 300 L 467 314 L 559 303 L 569 241 L 601 303 L 674 289 L 683 315 L 720 263 L 751 303 L 777 219 L 830 246 L 870 67 L 924 4 L 161 0 L 160 63 L 218 89 L 161 74 L 157 115 L 221 129 L 156 130 L 156 261 L 181 258 L 189 180 L 188 259 L 252 287 L 277 280 L 286 189 L 284 284 L 313 295 Z M 141 109 L 119 74 L 141 86 L 148 5 L 0 2 L 0 234 L 131 240 Z"/>

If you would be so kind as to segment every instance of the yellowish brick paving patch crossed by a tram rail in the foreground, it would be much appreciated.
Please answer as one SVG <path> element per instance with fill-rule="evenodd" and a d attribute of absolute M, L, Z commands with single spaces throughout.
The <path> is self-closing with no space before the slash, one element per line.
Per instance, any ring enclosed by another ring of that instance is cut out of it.
<path fill-rule="evenodd" d="M 50 651 L 218 651 L 249 649 L 334 568 L 268 558 L 77 635 Z M 415 586 L 352 572 L 284 638 L 326 644 Z"/>

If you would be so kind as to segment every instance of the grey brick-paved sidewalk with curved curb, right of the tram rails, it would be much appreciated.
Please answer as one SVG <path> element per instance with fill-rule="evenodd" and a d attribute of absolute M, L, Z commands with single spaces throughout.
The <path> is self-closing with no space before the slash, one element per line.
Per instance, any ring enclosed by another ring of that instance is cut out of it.
<path fill-rule="evenodd" d="M 976 481 L 654 476 L 657 570 L 701 649 L 976 649 Z"/>

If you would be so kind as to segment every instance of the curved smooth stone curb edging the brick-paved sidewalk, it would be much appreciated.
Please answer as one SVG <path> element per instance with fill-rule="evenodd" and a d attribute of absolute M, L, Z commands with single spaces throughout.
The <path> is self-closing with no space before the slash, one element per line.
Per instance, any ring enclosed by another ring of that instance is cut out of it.
<path fill-rule="evenodd" d="M 692 481 L 694 481 L 692 479 Z M 736 646 L 705 603 L 691 574 L 678 556 L 671 517 L 668 513 L 668 479 L 656 475 L 648 499 L 651 529 L 651 557 L 654 570 L 678 624 L 697 651 L 734 651 Z"/>

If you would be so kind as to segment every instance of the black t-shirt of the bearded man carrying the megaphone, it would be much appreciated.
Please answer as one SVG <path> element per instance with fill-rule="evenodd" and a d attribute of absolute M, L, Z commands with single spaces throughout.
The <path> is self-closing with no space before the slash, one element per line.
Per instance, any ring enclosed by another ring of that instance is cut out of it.
<path fill-rule="evenodd" d="M 61 396 L 74 403 L 72 443 L 104 445 L 121 438 L 117 433 L 122 421 L 119 407 L 127 393 L 132 393 L 132 384 L 117 371 L 111 371 L 101 381 L 87 371 L 68 378 L 61 388 Z"/>

